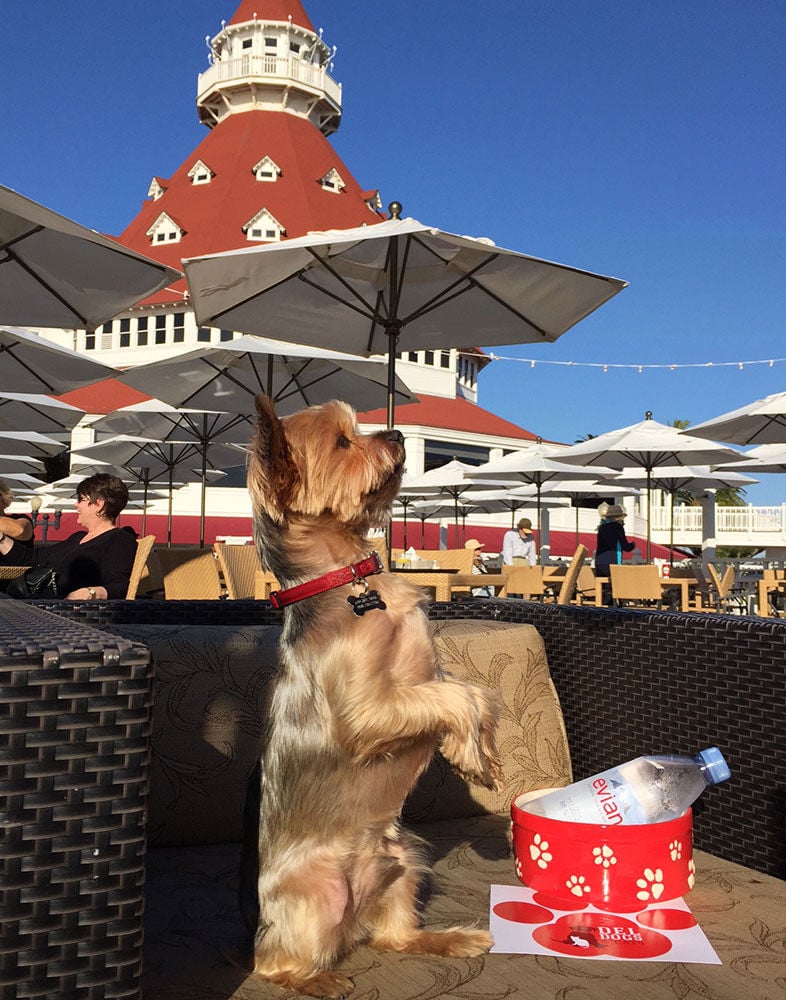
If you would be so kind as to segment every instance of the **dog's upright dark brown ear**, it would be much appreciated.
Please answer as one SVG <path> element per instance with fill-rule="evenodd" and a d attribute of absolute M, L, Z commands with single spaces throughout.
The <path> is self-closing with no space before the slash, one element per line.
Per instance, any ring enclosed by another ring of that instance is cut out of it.
<path fill-rule="evenodd" d="M 248 489 L 274 521 L 281 522 L 289 509 L 300 476 L 273 401 L 261 393 L 256 397 L 257 424 L 251 439 Z"/>

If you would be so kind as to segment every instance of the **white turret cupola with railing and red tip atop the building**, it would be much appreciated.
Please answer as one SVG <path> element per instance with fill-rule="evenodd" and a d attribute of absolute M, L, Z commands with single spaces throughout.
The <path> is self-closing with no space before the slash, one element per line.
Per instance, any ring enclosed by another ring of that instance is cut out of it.
<path fill-rule="evenodd" d="M 335 48 L 314 31 L 299 0 L 244 0 L 205 39 L 210 67 L 199 76 L 200 120 L 213 128 L 242 111 L 286 111 L 324 135 L 341 120 L 341 84 L 328 75 Z"/>

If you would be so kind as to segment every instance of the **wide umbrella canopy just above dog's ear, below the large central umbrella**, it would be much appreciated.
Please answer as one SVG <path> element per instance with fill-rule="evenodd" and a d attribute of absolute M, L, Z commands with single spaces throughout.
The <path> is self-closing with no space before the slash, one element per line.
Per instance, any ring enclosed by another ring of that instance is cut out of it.
<path fill-rule="evenodd" d="M 284 416 L 331 399 L 370 410 L 381 404 L 387 391 L 387 372 L 379 361 L 263 337 L 238 337 L 138 365 L 120 380 L 173 406 L 249 415 L 260 392 L 270 396 L 276 412 Z M 401 402 L 414 398 L 400 380 L 394 391 Z"/>

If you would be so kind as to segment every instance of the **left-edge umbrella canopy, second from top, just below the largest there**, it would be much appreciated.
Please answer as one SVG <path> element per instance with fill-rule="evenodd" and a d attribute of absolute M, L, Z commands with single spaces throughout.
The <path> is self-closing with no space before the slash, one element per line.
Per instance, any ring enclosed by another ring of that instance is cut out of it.
<path fill-rule="evenodd" d="M 113 375 L 117 375 L 114 368 L 91 361 L 30 330 L 0 329 L 2 391 L 57 395 Z"/>

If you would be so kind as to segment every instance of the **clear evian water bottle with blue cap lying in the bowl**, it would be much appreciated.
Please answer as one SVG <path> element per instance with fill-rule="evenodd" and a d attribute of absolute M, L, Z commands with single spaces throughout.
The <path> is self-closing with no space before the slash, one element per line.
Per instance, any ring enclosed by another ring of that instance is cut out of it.
<path fill-rule="evenodd" d="M 708 785 L 730 774 L 717 747 L 695 756 L 636 757 L 520 805 L 537 816 L 574 823 L 661 823 L 681 816 Z"/>

